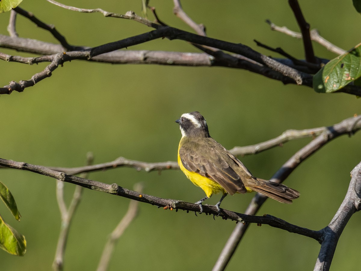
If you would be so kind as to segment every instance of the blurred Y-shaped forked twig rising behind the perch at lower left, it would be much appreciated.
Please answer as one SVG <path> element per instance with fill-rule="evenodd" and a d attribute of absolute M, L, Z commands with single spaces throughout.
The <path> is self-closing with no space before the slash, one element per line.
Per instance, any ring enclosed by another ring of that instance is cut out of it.
<path fill-rule="evenodd" d="M 87 154 L 87 165 L 91 165 L 93 162 L 93 155 L 91 153 Z M 88 172 L 82 173 L 81 177 L 86 178 Z M 56 180 L 56 199 L 58 202 L 61 223 L 60 223 L 60 233 L 58 238 L 58 243 L 56 246 L 55 258 L 53 261 L 53 269 L 56 271 L 63 270 L 64 268 L 64 253 L 66 248 L 66 242 L 68 240 L 69 229 L 71 225 L 71 220 L 73 219 L 74 213 L 77 210 L 77 207 L 80 203 L 82 197 L 83 187 L 75 186 L 73 198 L 71 199 L 69 208 L 66 208 L 64 200 L 64 182 Z"/>

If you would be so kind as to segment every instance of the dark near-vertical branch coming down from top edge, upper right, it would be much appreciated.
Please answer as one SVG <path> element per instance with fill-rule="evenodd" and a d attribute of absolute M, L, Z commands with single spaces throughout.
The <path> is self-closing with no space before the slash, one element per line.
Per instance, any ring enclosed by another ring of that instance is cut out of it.
<path fill-rule="evenodd" d="M 311 36 L 310 36 L 310 25 L 308 22 L 306 22 L 301 7 L 297 0 L 288 0 L 288 4 L 290 4 L 293 14 L 295 14 L 297 23 L 301 29 L 306 61 L 309 63 L 318 64 L 318 60 L 313 52 Z"/>

